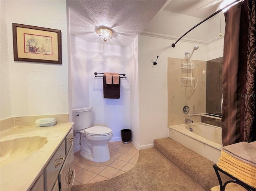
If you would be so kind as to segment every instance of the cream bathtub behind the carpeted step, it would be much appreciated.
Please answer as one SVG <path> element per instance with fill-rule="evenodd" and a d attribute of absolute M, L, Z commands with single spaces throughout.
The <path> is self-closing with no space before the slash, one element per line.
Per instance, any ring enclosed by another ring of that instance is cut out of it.
<path fill-rule="evenodd" d="M 190 131 L 191 129 L 192 131 Z M 194 152 L 218 162 L 222 150 L 220 127 L 204 124 L 182 124 L 169 126 L 169 137 Z"/>

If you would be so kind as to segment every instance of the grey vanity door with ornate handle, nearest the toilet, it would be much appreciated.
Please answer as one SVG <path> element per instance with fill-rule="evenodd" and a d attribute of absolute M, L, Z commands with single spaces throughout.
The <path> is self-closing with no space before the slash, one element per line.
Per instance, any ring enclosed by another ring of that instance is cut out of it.
<path fill-rule="evenodd" d="M 59 181 L 60 191 L 71 191 L 73 179 L 74 179 L 74 153 L 73 145 L 71 146 L 68 155 L 66 156 L 65 162 L 60 170 Z"/>

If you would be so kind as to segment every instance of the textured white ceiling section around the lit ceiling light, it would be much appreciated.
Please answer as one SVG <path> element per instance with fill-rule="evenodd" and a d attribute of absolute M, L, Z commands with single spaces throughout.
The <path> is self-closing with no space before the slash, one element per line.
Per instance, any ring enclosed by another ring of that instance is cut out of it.
<path fill-rule="evenodd" d="M 70 33 L 87 42 L 104 43 L 97 29 L 111 28 L 112 39 L 106 43 L 129 46 L 166 0 L 70 0 Z"/>

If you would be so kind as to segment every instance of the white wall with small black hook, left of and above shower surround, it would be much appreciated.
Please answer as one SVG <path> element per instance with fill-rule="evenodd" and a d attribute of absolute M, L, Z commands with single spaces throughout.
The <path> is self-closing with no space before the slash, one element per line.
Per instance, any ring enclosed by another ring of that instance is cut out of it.
<path fill-rule="evenodd" d="M 180 41 L 173 48 L 171 45 L 174 42 L 143 35 L 138 38 L 140 148 L 152 147 L 154 139 L 168 136 L 167 58 L 185 58 L 184 52 L 191 51 L 198 44 L 199 49 L 194 52 L 194 59 L 207 59 L 207 45 Z M 153 66 L 157 55 L 158 64 Z"/>

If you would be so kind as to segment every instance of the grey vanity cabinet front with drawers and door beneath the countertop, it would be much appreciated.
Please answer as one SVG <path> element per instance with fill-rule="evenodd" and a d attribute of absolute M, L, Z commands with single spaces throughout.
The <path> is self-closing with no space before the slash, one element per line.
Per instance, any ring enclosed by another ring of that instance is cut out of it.
<path fill-rule="evenodd" d="M 44 169 L 45 191 L 71 191 L 74 179 L 73 130 L 71 128 Z"/>

